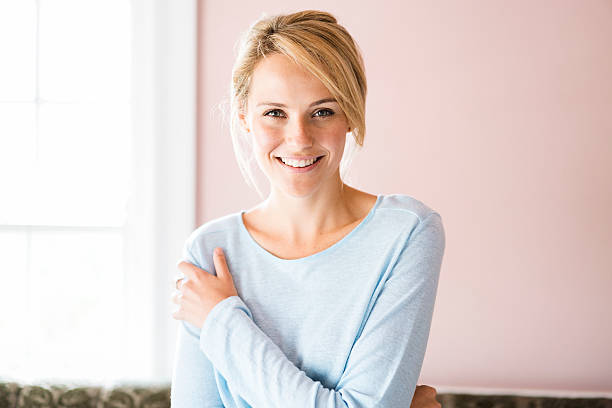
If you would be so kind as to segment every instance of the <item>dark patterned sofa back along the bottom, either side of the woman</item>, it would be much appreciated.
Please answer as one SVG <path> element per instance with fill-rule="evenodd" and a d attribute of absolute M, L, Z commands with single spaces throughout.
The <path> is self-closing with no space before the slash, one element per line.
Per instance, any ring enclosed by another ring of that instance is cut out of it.
<path fill-rule="evenodd" d="M 438 394 L 443 408 L 612 408 L 607 398 Z M 0 408 L 167 408 L 169 386 L 26 385 L 0 383 Z M 179 407 L 190 408 L 190 407 Z M 290 408 L 290 407 L 288 407 Z M 398 407 L 407 408 L 407 407 Z"/>

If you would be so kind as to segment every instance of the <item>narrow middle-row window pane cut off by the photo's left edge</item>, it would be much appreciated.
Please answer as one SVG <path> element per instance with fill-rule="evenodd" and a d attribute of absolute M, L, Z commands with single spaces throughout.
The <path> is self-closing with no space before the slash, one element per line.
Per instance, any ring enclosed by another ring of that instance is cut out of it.
<path fill-rule="evenodd" d="M 32 212 L 36 107 L 0 103 L 0 224 L 19 224 Z"/>

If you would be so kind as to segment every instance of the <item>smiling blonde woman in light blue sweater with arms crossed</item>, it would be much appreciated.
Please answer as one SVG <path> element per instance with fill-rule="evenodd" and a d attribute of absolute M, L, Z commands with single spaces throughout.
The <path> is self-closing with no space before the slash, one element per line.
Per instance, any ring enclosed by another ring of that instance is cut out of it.
<path fill-rule="evenodd" d="M 353 39 L 324 12 L 259 20 L 231 92 L 238 163 L 257 188 L 253 155 L 270 194 L 185 244 L 173 406 L 439 406 L 415 386 L 444 229 L 414 198 L 342 181 L 346 138 L 365 135 Z"/>

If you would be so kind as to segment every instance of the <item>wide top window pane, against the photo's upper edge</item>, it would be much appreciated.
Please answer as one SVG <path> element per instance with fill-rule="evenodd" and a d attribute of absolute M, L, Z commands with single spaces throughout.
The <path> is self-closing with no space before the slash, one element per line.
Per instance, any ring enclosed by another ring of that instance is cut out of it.
<path fill-rule="evenodd" d="M 40 1 L 40 96 L 129 100 L 128 0 Z"/>

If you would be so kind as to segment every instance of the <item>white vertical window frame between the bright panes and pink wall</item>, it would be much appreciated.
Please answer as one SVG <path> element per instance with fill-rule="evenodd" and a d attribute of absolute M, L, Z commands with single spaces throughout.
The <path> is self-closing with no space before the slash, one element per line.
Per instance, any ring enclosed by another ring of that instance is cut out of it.
<path fill-rule="evenodd" d="M 172 277 L 195 227 L 196 0 L 132 1 L 132 196 L 125 248 L 125 379 L 169 382 Z"/>

